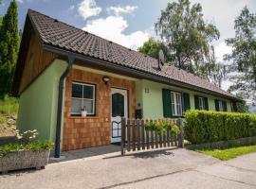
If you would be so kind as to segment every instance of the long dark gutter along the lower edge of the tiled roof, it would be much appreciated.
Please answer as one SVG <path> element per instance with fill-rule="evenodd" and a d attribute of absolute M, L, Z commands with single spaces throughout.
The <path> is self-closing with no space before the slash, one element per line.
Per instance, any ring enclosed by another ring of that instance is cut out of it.
<path fill-rule="evenodd" d="M 47 51 L 50 51 L 50 52 L 53 52 L 53 53 L 56 53 L 56 54 L 59 54 L 59 55 L 62 55 L 62 56 L 65 56 L 66 53 L 69 52 L 68 50 L 62 49 L 60 47 L 53 46 L 51 44 L 46 44 L 46 43 L 43 44 L 43 48 Z M 200 87 L 194 88 L 194 86 L 190 86 L 189 84 L 184 83 L 182 81 L 176 81 L 176 80 L 171 79 L 171 78 L 155 76 L 153 74 L 145 73 L 145 72 L 133 69 L 133 68 L 123 67 L 121 64 L 116 64 L 116 63 L 112 63 L 112 62 L 109 62 L 109 61 L 106 61 L 106 60 L 99 60 L 99 59 L 87 57 L 87 56 L 84 56 L 84 55 L 82 55 L 78 52 L 74 53 L 74 54 L 76 56 L 76 60 L 88 61 L 88 62 L 94 63 L 95 65 L 104 66 L 106 68 L 109 68 L 109 69 L 112 69 L 112 70 L 115 70 L 115 71 L 119 71 L 119 72 L 123 72 L 123 73 L 131 73 L 136 77 L 147 78 L 149 80 L 153 80 L 153 81 L 156 81 L 156 82 L 162 82 L 162 83 L 169 84 L 169 85 L 172 84 L 176 87 L 181 87 L 182 86 L 182 88 L 184 88 L 184 89 L 196 91 L 196 92 L 199 92 L 199 93 L 213 94 L 213 95 L 216 95 L 216 96 L 219 96 L 219 97 L 228 98 L 229 100 L 240 101 L 240 99 L 236 98 L 235 96 L 232 97 L 232 96 L 226 95 L 226 94 L 219 94 L 219 93 L 216 93 L 214 91 L 202 89 Z"/>

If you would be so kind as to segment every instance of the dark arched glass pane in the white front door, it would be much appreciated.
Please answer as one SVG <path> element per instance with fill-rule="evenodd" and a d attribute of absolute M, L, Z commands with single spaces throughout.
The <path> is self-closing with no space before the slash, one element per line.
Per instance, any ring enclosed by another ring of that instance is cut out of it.
<path fill-rule="evenodd" d="M 112 117 L 124 116 L 124 97 L 122 94 L 112 94 Z"/>

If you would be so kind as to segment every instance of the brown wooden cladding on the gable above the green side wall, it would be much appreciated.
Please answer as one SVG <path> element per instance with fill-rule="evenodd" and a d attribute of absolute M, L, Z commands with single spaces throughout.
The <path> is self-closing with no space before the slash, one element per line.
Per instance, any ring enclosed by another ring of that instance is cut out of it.
<path fill-rule="evenodd" d="M 57 55 L 42 49 L 42 43 L 34 31 L 31 31 L 26 54 L 19 94 L 57 58 Z"/>

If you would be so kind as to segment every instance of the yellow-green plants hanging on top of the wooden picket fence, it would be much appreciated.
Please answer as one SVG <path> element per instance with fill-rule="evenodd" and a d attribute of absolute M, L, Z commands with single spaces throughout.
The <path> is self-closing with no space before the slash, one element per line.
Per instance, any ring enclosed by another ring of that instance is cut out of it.
<path fill-rule="evenodd" d="M 149 121 L 145 124 L 145 129 L 150 131 L 155 131 L 158 134 L 163 134 L 167 130 L 171 129 L 171 133 L 174 136 L 177 136 L 180 133 L 178 126 L 176 126 L 173 121 L 167 121 L 167 120 L 163 120 L 159 122 Z"/>

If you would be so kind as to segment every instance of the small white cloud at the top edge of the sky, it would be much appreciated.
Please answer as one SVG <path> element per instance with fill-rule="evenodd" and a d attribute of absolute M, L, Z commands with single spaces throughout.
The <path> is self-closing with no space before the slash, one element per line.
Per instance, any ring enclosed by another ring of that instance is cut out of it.
<path fill-rule="evenodd" d="M 97 7 L 95 0 L 82 0 L 78 8 L 83 20 L 91 16 L 97 16 L 101 13 L 101 8 Z"/>

